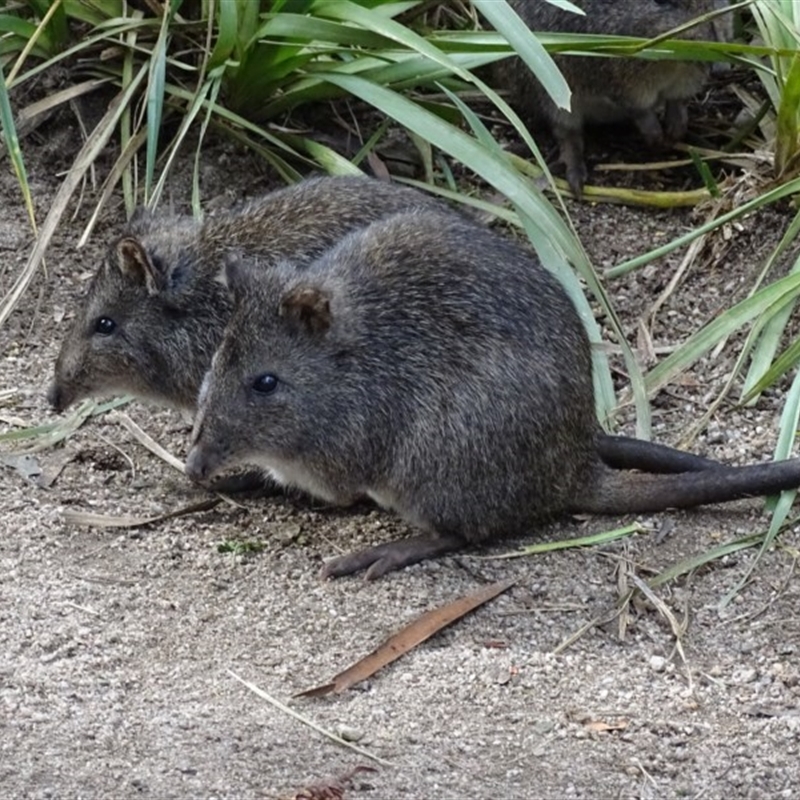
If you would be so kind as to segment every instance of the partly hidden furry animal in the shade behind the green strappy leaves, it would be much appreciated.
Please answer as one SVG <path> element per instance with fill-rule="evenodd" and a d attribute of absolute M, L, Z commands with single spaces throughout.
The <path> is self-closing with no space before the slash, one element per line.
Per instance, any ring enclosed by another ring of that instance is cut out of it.
<path fill-rule="evenodd" d="M 543 0 L 508 0 L 532 31 L 613 34 L 654 38 L 707 12 L 724 0 L 579 0 L 585 16 Z M 730 15 L 697 25 L 687 39 L 731 38 Z M 531 126 L 550 128 L 560 147 L 567 180 L 576 196 L 586 181 L 584 127 L 633 122 L 651 146 L 680 141 L 686 134 L 686 101 L 706 82 L 708 65 L 691 61 L 557 56 L 556 63 L 572 90 L 571 110 L 556 106 L 520 59 L 497 66 L 511 103 Z M 663 124 L 657 112 L 663 108 Z"/>

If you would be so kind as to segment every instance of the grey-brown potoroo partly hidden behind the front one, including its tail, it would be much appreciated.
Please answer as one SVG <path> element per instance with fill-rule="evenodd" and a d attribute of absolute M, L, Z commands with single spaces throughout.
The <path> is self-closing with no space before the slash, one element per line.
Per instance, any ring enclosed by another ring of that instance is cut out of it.
<path fill-rule="evenodd" d="M 303 265 L 346 233 L 412 208 L 443 210 L 413 189 L 369 178 L 316 178 L 199 222 L 140 213 L 111 245 L 65 337 L 49 390 L 59 411 L 87 396 L 128 393 L 193 412 L 231 304 L 217 276 L 224 256 Z M 110 322 L 110 332 L 98 330 Z M 706 469 L 714 462 L 598 432 L 619 467 Z"/>

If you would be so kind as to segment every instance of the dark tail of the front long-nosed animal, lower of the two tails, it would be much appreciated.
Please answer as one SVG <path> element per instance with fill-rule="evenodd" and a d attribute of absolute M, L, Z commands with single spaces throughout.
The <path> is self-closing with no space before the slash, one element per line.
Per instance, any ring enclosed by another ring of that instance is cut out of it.
<path fill-rule="evenodd" d="M 626 514 L 727 503 L 800 487 L 800 458 L 676 475 L 620 472 L 598 463 L 573 512 Z"/>

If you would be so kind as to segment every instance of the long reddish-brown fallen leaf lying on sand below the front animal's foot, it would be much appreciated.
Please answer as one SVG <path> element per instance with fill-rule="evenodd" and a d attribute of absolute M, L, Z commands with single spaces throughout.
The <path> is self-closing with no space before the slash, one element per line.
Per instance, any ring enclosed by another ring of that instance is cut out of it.
<path fill-rule="evenodd" d="M 497 595 L 510 589 L 515 583 L 515 578 L 499 581 L 491 586 L 486 586 L 479 592 L 461 597 L 445 606 L 426 611 L 421 617 L 417 617 L 405 628 L 390 636 L 368 656 L 353 664 L 352 667 L 348 667 L 344 672 L 340 672 L 329 683 L 300 692 L 295 697 L 321 697 L 330 692 L 341 694 L 356 683 L 371 677 L 379 669 L 391 664 L 392 661 L 405 655 L 426 639 L 430 639 L 434 633 L 437 633 L 442 628 L 447 627 L 470 611 L 474 611 L 489 600 L 493 600 Z"/>

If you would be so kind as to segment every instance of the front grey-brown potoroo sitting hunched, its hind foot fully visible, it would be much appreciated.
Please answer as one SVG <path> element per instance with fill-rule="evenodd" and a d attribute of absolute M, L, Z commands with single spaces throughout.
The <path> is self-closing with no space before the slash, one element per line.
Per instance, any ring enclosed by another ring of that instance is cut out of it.
<path fill-rule="evenodd" d="M 187 472 L 241 463 L 328 501 L 367 495 L 423 534 L 334 559 L 374 578 L 565 512 L 656 511 L 800 485 L 800 460 L 649 475 L 598 453 L 590 348 L 513 242 L 410 212 L 305 270 L 232 259 L 235 310 Z"/>

